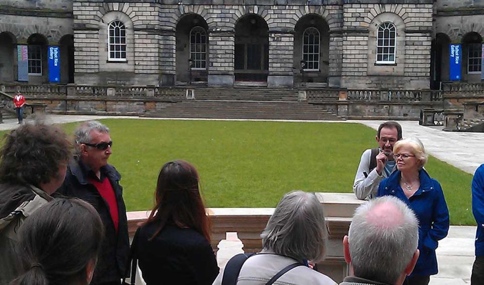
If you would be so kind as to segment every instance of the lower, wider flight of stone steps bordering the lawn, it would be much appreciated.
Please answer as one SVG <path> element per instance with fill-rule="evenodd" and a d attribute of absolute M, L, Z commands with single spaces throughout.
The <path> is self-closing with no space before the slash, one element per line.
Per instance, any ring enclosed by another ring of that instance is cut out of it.
<path fill-rule="evenodd" d="M 197 95 L 195 95 L 197 97 Z M 210 95 L 213 96 L 213 95 Z M 322 105 L 294 101 L 184 100 L 144 117 L 273 120 L 343 120 Z"/>

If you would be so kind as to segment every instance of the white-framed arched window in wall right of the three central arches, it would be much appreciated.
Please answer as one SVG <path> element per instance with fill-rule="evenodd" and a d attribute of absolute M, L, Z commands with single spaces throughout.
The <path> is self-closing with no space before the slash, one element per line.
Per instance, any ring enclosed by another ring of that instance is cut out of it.
<path fill-rule="evenodd" d="M 378 27 L 377 64 L 395 63 L 395 42 L 397 30 L 392 23 L 383 23 Z"/>

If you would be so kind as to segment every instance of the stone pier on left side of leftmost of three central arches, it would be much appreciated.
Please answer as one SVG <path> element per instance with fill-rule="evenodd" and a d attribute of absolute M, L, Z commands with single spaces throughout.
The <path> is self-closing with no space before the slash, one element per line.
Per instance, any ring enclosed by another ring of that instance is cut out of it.
<path fill-rule="evenodd" d="M 173 86 L 176 74 L 175 30 L 161 30 L 159 46 L 160 86 Z"/>

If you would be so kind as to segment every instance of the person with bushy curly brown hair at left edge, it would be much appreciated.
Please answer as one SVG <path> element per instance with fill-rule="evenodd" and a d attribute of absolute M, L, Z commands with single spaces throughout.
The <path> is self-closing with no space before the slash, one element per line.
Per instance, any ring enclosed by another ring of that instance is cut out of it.
<path fill-rule="evenodd" d="M 0 150 L 0 285 L 19 275 L 19 227 L 52 200 L 50 195 L 62 185 L 71 157 L 71 143 L 56 126 L 22 125 L 7 134 L 4 143 Z"/>

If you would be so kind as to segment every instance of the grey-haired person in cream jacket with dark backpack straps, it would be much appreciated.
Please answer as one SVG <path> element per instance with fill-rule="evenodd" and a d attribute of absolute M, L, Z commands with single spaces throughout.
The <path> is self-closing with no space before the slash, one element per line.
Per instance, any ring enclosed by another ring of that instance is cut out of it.
<path fill-rule="evenodd" d="M 322 261 L 328 232 L 323 206 L 314 193 L 293 191 L 282 197 L 262 232 L 263 250 L 245 260 L 240 270 L 230 269 L 232 260 L 213 284 L 234 277 L 237 285 L 274 284 L 336 285 L 328 276 L 311 269 L 308 261 Z M 224 274 L 225 273 L 225 274 Z M 238 277 L 237 274 L 238 273 Z M 272 283 L 270 283 L 272 284 Z"/>

